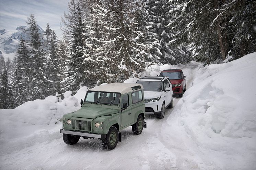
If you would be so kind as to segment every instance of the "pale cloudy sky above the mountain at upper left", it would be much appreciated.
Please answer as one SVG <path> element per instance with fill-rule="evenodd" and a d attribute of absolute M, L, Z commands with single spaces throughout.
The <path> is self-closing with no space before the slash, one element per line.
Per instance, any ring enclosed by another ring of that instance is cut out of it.
<path fill-rule="evenodd" d="M 27 17 L 34 14 L 37 24 L 44 30 L 46 24 L 60 38 L 60 19 L 67 12 L 69 0 L 0 0 L 0 30 L 15 30 L 26 26 Z"/>

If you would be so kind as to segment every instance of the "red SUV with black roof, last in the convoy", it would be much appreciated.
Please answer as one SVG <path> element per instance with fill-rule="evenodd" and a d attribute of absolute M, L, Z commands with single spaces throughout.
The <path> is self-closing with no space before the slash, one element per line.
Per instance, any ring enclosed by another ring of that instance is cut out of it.
<path fill-rule="evenodd" d="M 170 70 L 163 70 L 160 73 L 160 76 L 167 76 L 169 77 L 172 88 L 173 94 L 182 97 L 183 93 L 186 91 L 186 76 L 183 75 L 181 69 L 170 69 Z"/>

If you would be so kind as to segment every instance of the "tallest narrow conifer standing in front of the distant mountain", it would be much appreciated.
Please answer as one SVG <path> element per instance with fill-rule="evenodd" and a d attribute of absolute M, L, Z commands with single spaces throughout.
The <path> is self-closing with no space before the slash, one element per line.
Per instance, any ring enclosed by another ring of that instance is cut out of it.
<path fill-rule="evenodd" d="M 31 14 L 28 18 L 27 24 L 30 26 L 29 30 L 29 55 L 31 58 L 31 63 L 28 64 L 32 68 L 33 78 L 31 80 L 32 87 L 32 98 L 35 99 L 44 99 L 45 92 L 47 87 L 45 84 L 47 79 L 44 75 L 44 58 L 43 58 L 43 49 L 42 49 L 42 34 L 39 32 L 39 27 L 36 23 L 35 16 Z"/>

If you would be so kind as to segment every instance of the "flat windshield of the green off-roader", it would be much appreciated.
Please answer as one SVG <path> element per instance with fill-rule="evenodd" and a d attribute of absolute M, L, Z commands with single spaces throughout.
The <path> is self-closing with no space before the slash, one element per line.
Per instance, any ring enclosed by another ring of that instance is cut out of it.
<path fill-rule="evenodd" d="M 120 93 L 88 91 L 84 102 L 117 105 L 120 102 Z"/>

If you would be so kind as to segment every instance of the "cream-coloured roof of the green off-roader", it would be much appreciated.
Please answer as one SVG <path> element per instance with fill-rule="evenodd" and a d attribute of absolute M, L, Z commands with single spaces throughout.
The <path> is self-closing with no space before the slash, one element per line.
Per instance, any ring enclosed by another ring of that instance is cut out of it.
<path fill-rule="evenodd" d="M 103 91 L 103 92 L 113 92 L 113 93 L 129 93 L 133 91 L 131 88 L 135 86 L 140 86 L 141 89 L 143 89 L 143 86 L 141 84 L 135 84 L 135 83 L 110 83 L 110 84 L 104 84 L 101 86 L 96 86 L 90 91 Z"/>

